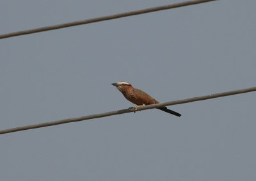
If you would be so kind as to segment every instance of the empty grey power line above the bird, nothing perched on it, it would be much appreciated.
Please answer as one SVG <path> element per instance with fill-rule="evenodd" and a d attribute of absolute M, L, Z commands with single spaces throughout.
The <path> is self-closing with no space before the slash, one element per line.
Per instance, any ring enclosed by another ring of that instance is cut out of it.
<path fill-rule="evenodd" d="M 20 35 L 27 35 L 27 34 L 31 34 L 31 33 L 38 33 L 41 31 L 49 31 L 52 29 L 67 28 L 70 26 L 77 26 L 77 25 L 81 25 L 81 24 L 89 24 L 89 23 L 99 22 L 99 21 L 103 21 L 103 20 L 118 19 L 118 18 L 128 17 L 128 16 L 132 16 L 132 15 L 140 15 L 143 13 L 150 13 L 150 12 L 157 12 L 157 11 L 161 11 L 161 10 L 168 10 L 168 9 L 172 9 L 172 8 L 179 8 L 182 6 L 189 6 L 192 4 L 207 3 L 209 1 L 216 1 L 216 0 L 185 1 L 185 2 L 181 2 L 181 3 L 157 6 L 157 7 L 153 7 L 153 8 L 136 10 L 136 11 L 132 11 L 132 12 L 125 12 L 125 13 L 118 13 L 118 14 L 114 14 L 114 15 L 108 15 L 108 16 L 104 16 L 104 17 L 97 17 L 97 18 L 93 18 L 93 19 L 85 19 L 85 20 L 79 20 L 79 21 L 74 21 L 74 22 L 67 22 L 64 24 L 56 24 L 53 26 L 45 26 L 45 27 L 41 27 L 41 28 L 28 29 L 28 30 L 24 30 L 24 31 L 16 31 L 16 32 L 12 32 L 12 33 L 2 34 L 2 35 L 0 35 L 0 39 L 9 38 L 12 36 L 20 36 Z"/>

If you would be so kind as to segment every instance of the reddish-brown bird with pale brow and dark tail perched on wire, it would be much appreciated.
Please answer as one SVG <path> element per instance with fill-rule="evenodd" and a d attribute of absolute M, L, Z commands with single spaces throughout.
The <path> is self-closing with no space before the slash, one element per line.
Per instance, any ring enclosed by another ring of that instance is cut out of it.
<path fill-rule="evenodd" d="M 122 81 L 118 83 L 113 83 L 112 85 L 115 86 L 127 100 L 137 105 L 136 107 L 134 107 L 136 111 L 139 106 L 159 103 L 156 99 L 152 98 L 144 91 L 132 87 L 130 83 Z M 175 116 L 181 116 L 180 113 L 167 109 L 167 107 L 159 107 L 157 109 L 160 109 L 161 111 L 164 111 L 166 113 L 173 114 Z"/>

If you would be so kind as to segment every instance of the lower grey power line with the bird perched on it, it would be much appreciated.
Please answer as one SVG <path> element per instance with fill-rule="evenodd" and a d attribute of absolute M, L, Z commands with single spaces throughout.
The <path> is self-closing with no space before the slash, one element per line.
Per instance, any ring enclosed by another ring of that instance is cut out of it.
<path fill-rule="evenodd" d="M 151 104 L 151 105 L 147 105 L 147 106 L 141 106 L 141 107 L 138 107 L 137 111 L 153 109 L 153 108 L 158 108 L 158 107 L 164 107 L 164 106 L 172 106 L 172 105 L 176 105 L 176 104 L 185 104 L 188 102 L 207 100 L 210 98 L 225 97 L 228 95 L 236 95 L 239 93 L 248 93 L 250 91 L 256 91 L 256 87 L 246 88 L 246 89 L 242 89 L 242 90 L 226 91 L 226 92 L 222 92 L 222 93 L 214 93 L 214 94 L 204 95 L 204 96 L 200 96 L 200 97 L 186 98 L 186 99 L 182 99 L 182 100 L 174 100 L 174 101 L 170 101 L 170 102 Z M 46 123 L 39 123 L 39 124 L 28 125 L 28 126 L 23 126 L 23 127 L 15 127 L 12 129 L 4 129 L 4 130 L 0 130 L 0 134 L 6 134 L 6 133 L 10 133 L 10 132 L 17 132 L 17 131 L 28 130 L 28 129 L 36 129 L 36 128 L 40 128 L 40 127 L 49 127 L 49 126 L 60 125 L 60 124 L 64 124 L 64 123 L 81 122 L 83 120 L 90 120 L 90 119 L 95 119 L 95 118 L 102 118 L 102 117 L 106 117 L 106 116 L 113 116 L 116 114 L 124 114 L 124 113 L 131 113 L 131 112 L 134 112 L 134 107 L 131 107 L 129 109 L 121 109 L 118 111 L 110 111 L 107 113 L 81 116 L 78 118 L 69 118 L 69 119 L 58 120 L 58 121 L 54 121 L 54 122 L 46 122 Z"/>

